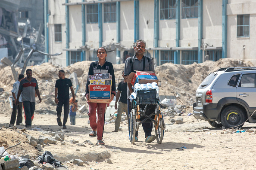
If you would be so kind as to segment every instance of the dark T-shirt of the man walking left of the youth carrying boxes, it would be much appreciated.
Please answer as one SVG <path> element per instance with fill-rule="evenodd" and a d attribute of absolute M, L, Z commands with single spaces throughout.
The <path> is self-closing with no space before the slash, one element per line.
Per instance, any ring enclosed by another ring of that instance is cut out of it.
<path fill-rule="evenodd" d="M 69 87 L 72 86 L 70 79 L 58 79 L 56 80 L 55 87 L 58 88 L 58 99 L 69 100 Z"/>

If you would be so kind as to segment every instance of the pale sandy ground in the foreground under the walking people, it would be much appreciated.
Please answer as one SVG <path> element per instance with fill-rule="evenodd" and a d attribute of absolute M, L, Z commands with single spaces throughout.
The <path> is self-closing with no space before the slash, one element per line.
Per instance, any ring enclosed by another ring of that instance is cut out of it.
<path fill-rule="evenodd" d="M 9 115 L 0 114 L 0 122 L 8 122 Z M 168 116 L 165 117 L 165 123 L 170 124 Z M 177 116 L 175 117 L 177 118 Z M 234 170 L 234 169 L 255 169 L 254 152 L 255 135 L 254 133 L 233 133 L 221 129 L 212 128 L 208 122 L 197 120 L 194 116 L 182 116 L 183 124 L 167 125 L 162 144 L 144 142 L 144 133 L 140 127 L 139 141 L 132 145 L 128 138 L 128 129 L 125 121 L 121 124 L 122 131 L 112 132 L 114 124 L 106 124 L 104 131 L 105 146 L 92 146 L 85 143 L 85 146 L 77 146 L 69 140 L 78 140 L 83 143 L 84 140 L 90 140 L 96 143 L 96 138 L 89 138 L 88 133 L 91 131 L 87 124 L 88 118 L 76 118 L 76 125 L 68 125 L 65 134 L 66 145 L 62 146 L 61 142 L 56 145 L 45 145 L 41 152 L 29 146 L 25 136 L 18 134 L 14 130 L 3 129 L 0 131 L 0 140 L 6 140 L 9 145 L 16 143 L 12 139 L 18 138 L 22 144 L 9 150 L 10 154 L 29 154 L 32 158 L 41 155 L 44 151 L 50 151 L 54 158 L 59 161 L 70 161 L 72 158 L 80 158 L 88 161 L 85 156 L 88 152 L 110 154 L 109 158 L 112 164 L 106 163 L 106 159 L 98 161 L 89 161 L 89 165 L 84 164 L 82 167 L 72 163 L 63 163 L 70 170 L 113 170 L 113 169 L 137 169 L 137 170 Z M 68 120 L 69 121 L 69 120 Z M 84 123 L 86 122 L 86 123 Z M 18 126 L 23 128 L 24 126 Z M 56 124 L 56 115 L 35 115 L 32 127 L 40 127 L 45 131 L 54 131 L 57 133 L 61 128 Z M 244 129 L 256 127 L 256 124 L 245 124 Z M 203 132 L 203 129 L 208 129 Z M 185 132 L 186 130 L 198 130 L 199 132 Z M 225 134 L 221 134 L 225 132 Z M 22 133 L 22 132 L 21 132 Z M 38 131 L 27 130 L 25 133 L 38 137 L 41 134 Z M 154 133 L 154 131 L 153 131 Z M 8 134 L 8 135 L 7 135 Z M 185 146 L 187 149 L 179 150 Z M 80 151 L 76 151 L 80 149 Z"/>

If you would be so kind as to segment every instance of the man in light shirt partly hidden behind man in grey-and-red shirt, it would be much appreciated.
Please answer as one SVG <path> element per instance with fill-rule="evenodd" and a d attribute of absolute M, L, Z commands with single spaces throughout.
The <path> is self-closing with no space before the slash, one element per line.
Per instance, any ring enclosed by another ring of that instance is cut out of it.
<path fill-rule="evenodd" d="M 17 115 L 17 121 L 16 125 L 18 126 L 20 123 L 22 123 L 22 97 L 19 97 L 19 104 L 16 105 L 16 100 L 18 96 L 18 91 L 19 91 L 19 83 L 24 79 L 24 75 L 20 74 L 18 81 L 16 81 L 13 84 L 12 88 L 12 115 L 11 115 L 11 120 L 10 120 L 10 126 L 13 126 L 15 123 L 16 115 Z M 17 109 L 18 109 L 18 114 L 17 114 Z"/>

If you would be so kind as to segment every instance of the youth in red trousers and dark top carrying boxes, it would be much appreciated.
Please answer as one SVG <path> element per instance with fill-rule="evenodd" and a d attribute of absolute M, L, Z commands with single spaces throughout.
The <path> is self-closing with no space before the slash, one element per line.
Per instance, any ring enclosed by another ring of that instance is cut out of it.
<path fill-rule="evenodd" d="M 112 63 L 106 61 L 107 52 L 106 49 L 100 47 L 97 50 L 97 57 L 98 61 L 94 61 L 90 64 L 88 75 L 93 74 L 100 74 L 100 73 L 109 73 L 112 75 L 112 91 L 111 91 L 111 100 L 109 103 L 114 99 L 116 95 L 116 80 L 115 80 L 115 73 Z M 92 103 L 89 100 L 89 79 L 87 77 L 86 83 L 86 99 L 89 105 L 89 121 L 92 131 L 89 134 L 89 137 L 96 137 L 97 136 L 97 145 L 104 145 L 105 143 L 102 141 L 103 139 L 103 131 L 104 131 L 104 122 L 105 122 L 105 112 L 107 106 L 109 104 L 106 103 Z M 98 115 L 98 121 L 96 121 L 96 110 Z"/>

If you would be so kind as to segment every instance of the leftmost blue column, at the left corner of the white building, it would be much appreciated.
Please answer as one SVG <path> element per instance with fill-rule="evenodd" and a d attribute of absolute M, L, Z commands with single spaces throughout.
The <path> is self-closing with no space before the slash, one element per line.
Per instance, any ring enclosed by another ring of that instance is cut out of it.
<path fill-rule="evenodd" d="M 49 54 L 49 30 L 48 30 L 48 21 L 49 21 L 49 14 L 48 14 L 48 0 L 44 0 L 44 46 L 45 52 Z M 48 62 L 48 56 L 44 55 L 44 62 Z"/>

